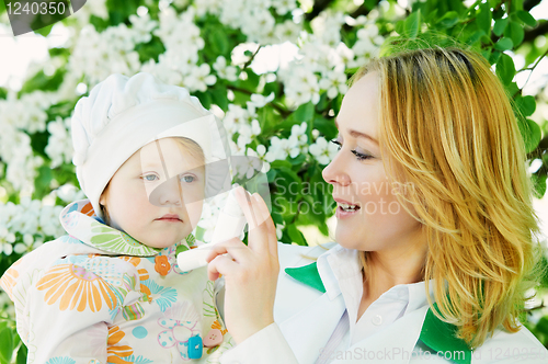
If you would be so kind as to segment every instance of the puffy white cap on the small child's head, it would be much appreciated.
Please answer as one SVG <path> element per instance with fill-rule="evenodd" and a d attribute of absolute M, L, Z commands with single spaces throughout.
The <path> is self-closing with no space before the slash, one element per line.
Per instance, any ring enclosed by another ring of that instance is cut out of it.
<path fill-rule="evenodd" d="M 72 162 L 80 187 L 95 214 L 99 198 L 117 169 L 145 145 L 165 137 L 186 137 L 205 156 L 205 197 L 230 190 L 230 147 L 222 123 L 185 88 L 139 72 L 114 73 L 81 98 L 71 120 Z"/>

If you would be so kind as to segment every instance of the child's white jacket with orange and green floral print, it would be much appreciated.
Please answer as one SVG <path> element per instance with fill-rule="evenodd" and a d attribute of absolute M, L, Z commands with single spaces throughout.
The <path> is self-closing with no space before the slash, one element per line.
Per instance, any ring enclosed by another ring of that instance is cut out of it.
<path fill-rule="evenodd" d="M 69 204 L 60 219 L 68 235 L 0 280 L 28 363 L 218 363 L 232 346 L 206 268 L 176 264 L 178 248 L 201 243 L 192 234 L 149 248 L 103 224 L 88 200 Z"/>

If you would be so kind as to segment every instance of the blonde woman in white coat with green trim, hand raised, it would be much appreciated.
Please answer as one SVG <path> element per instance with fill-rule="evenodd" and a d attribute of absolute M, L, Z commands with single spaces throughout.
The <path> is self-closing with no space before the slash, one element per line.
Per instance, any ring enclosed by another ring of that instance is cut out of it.
<path fill-rule="evenodd" d="M 264 203 L 240 197 L 265 223 L 209 255 L 237 342 L 221 363 L 548 363 L 517 321 L 538 217 L 489 64 L 439 47 L 374 60 L 335 123 L 336 244 L 277 244 Z"/>

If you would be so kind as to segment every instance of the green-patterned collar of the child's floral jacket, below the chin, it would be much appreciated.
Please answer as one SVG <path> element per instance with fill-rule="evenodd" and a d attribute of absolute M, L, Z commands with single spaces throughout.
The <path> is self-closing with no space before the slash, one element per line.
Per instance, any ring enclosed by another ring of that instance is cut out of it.
<path fill-rule="evenodd" d="M 62 227 L 81 242 L 103 251 L 136 257 L 153 257 L 162 249 L 151 248 L 132 238 L 124 231 L 115 229 L 95 215 L 89 200 L 76 201 L 67 205 L 59 216 Z M 186 248 L 195 244 L 195 237 L 186 237 Z M 178 242 L 180 246 L 183 241 Z"/>

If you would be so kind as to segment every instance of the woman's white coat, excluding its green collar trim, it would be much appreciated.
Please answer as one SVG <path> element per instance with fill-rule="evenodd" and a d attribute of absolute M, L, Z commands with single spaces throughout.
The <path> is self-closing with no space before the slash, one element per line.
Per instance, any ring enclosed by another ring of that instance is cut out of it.
<path fill-rule="evenodd" d="M 322 293 L 289 276 L 285 269 L 315 262 L 304 255 L 316 259 L 321 254 L 328 254 L 322 247 L 278 244 L 281 271 L 275 322 L 221 355 L 221 364 L 312 364 L 318 360 L 346 308 L 343 295 L 329 286 Z M 321 269 L 318 272 L 326 282 L 328 273 Z M 443 355 L 452 355 L 448 352 L 437 356 L 436 351 L 419 340 L 427 309 L 426 305 L 406 314 L 383 330 L 349 345 L 344 353 L 331 355 L 330 363 L 459 363 L 445 360 Z M 455 351 L 454 355 L 458 359 L 459 353 Z M 496 330 L 471 354 L 471 364 L 480 363 L 547 364 L 548 350 L 525 327 L 516 333 Z"/>

